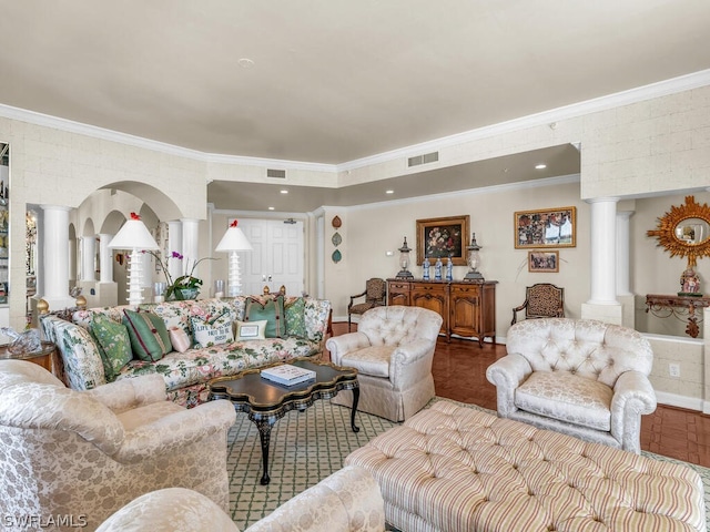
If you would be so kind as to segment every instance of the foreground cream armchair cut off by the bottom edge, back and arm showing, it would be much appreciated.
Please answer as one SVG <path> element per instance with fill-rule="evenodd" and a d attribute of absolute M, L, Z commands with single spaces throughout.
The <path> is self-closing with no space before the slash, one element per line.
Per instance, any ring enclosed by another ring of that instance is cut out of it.
<path fill-rule="evenodd" d="M 246 532 L 379 532 L 385 502 L 373 475 L 348 467 L 278 507 Z M 98 532 L 239 532 L 230 516 L 204 495 L 183 488 L 153 491 L 111 515 Z"/>

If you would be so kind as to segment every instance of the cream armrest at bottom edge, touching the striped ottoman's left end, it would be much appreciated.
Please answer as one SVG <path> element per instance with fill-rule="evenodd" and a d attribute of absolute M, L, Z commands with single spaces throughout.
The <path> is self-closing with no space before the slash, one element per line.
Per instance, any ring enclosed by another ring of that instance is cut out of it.
<path fill-rule="evenodd" d="M 297 530 L 332 532 L 385 530 L 385 502 L 373 475 L 348 466 L 297 494 L 245 532 L 292 530 L 288 524 L 308 523 Z"/>

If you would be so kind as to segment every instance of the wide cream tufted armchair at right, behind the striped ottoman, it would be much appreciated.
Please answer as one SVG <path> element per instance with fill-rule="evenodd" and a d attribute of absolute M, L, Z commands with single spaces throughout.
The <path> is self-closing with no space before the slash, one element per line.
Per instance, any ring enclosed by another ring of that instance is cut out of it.
<path fill-rule="evenodd" d="M 640 452 L 641 416 L 656 410 L 653 351 L 639 332 L 596 320 L 514 325 L 508 355 L 486 371 L 498 416 Z"/>

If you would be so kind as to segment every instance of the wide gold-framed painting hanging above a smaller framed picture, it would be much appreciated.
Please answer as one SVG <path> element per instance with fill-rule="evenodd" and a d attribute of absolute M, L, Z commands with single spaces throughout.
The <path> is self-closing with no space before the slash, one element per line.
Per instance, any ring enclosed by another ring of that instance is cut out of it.
<path fill-rule="evenodd" d="M 577 207 L 519 211 L 514 223 L 516 249 L 577 245 Z"/>

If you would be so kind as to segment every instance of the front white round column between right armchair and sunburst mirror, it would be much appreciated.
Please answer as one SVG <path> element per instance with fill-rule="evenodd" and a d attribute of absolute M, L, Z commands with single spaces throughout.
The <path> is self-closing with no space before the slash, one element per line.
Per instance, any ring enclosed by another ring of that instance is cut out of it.
<path fill-rule="evenodd" d="M 591 204 L 591 287 L 582 305 L 581 317 L 621 324 L 621 305 L 617 300 L 616 197 L 589 200 Z"/>

